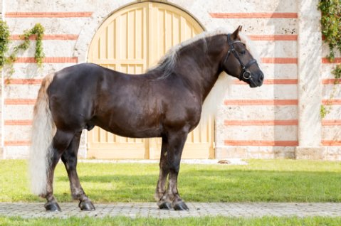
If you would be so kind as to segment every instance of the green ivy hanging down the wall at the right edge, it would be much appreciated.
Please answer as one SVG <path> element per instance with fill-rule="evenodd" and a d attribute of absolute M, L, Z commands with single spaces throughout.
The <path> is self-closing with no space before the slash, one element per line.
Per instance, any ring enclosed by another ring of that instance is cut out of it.
<path fill-rule="evenodd" d="M 322 35 L 325 38 L 325 42 L 329 45 L 330 53 L 327 56 L 330 62 L 335 60 L 335 49 L 341 53 L 341 1 L 340 0 L 320 0 L 318 4 L 320 9 Z M 332 75 L 335 78 L 335 84 L 330 95 L 332 99 L 337 90 L 337 85 L 340 84 L 341 79 L 341 64 L 337 65 L 332 70 Z M 324 118 L 326 114 L 330 112 L 330 104 L 321 105 L 320 114 Z"/>

